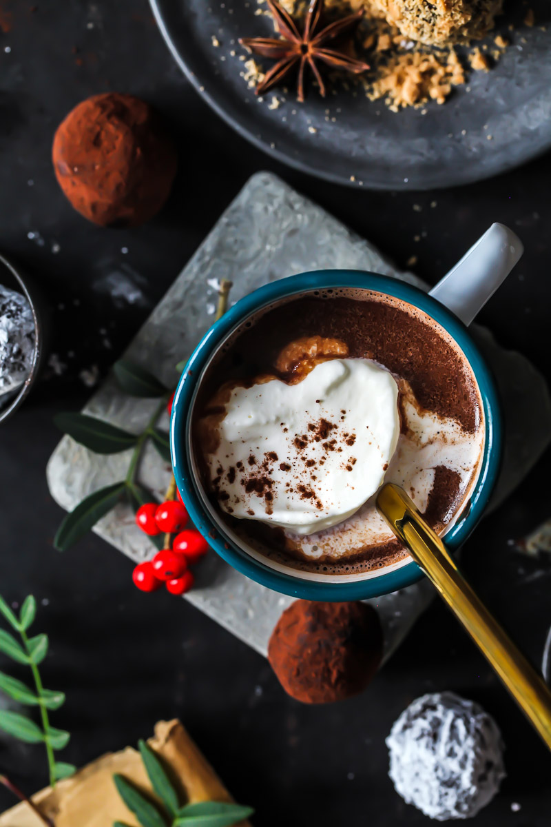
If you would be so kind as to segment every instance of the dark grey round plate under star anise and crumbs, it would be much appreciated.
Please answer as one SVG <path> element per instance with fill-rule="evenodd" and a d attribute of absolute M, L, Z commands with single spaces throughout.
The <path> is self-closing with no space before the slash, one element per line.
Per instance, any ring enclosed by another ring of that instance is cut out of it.
<path fill-rule="evenodd" d="M 512 11 L 495 33 L 509 35 L 511 22 L 519 28 L 496 68 L 473 72 L 470 91 L 459 87 L 443 106 L 430 103 L 425 115 L 390 112 L 382 101 L 344 89 L 324 100 L 311 87 L 305 104 L 289 94 L 270 109 L 272 95 L 260 102 L 240 76 L 238 38 L 273 33 L 270 20 L 255 15 L 256 0 L 150 2 L 175 59 L 207 103 L 264 151 L 321 178 L 374 189 L 449 187 L 510 170 L 551 146 L 548 0 L 530 3 L 533 27 L 521 23 L 527 7 L 510 0 Z"/>

